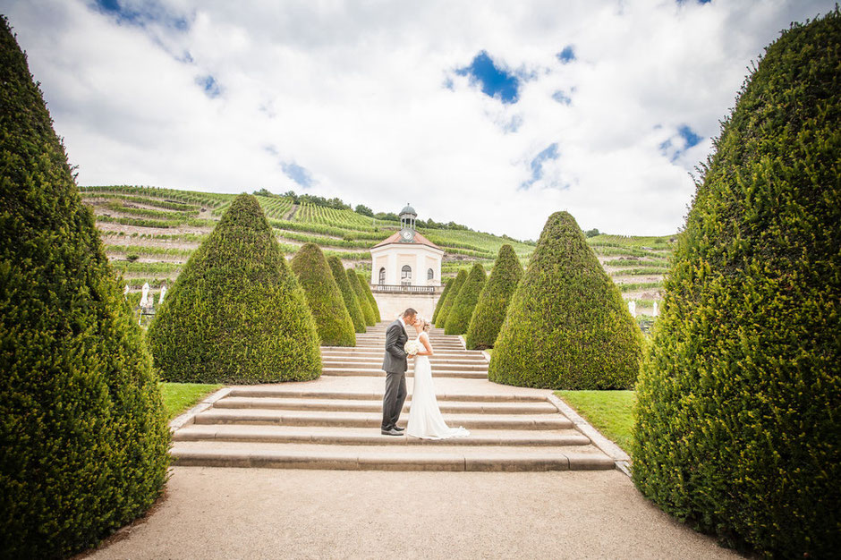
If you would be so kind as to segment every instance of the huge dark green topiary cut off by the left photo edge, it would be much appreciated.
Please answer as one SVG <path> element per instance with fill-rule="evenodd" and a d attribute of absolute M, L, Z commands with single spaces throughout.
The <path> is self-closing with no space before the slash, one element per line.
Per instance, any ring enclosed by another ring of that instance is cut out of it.
<path fill-rule="evenodd" d="M 0 18 L 0 557 L 96 544 L 160 495 L 157 375 Z"/>

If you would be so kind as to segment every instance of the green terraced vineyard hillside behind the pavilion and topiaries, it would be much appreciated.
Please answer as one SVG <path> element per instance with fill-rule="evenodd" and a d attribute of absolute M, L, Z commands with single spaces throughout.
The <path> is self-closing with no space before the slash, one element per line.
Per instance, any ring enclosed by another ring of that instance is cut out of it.
<path fill-rule="evenodd" d="M 172 284 L 184 263 L 210 233 L 235 194 L 178 191 L 155 187 L 82 187 L 82 199 L 93 208 L 106 251 L 123 274 L 132 298 L 140 287 Z M 370 273 L 370 247 L 399 229 L 395 221 L 362 216 L 353 210 L 327 208 L 293 199 L 258 196 L 277 241 L 291 259 L 306 242 L 318 244 L 327 256 L 336 255 L 345 267 Z M 421 233 L 446 250 L 443 276 L 480 262 L 493 266 L 504 243 L 514 247 L 523 266 L 534 245 L 508 237 L 461 229 L 427 229 Z M 626 298 L 637 300 L 638 311 L 650 313 L 659 297 L 674 237 L 598 235 L 590 244 L 607 272 L 621 284 Z"/>

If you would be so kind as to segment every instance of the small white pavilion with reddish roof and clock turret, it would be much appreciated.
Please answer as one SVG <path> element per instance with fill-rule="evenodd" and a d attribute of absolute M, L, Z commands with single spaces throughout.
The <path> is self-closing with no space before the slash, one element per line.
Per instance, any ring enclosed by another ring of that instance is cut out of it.
<path fill-rule="evenodd" d="M 444 250 L 415 229 L 418 213 L 406 204 L 400 231 L 371 250 L 371 284 L 375 286 L 440 286 Z"/>

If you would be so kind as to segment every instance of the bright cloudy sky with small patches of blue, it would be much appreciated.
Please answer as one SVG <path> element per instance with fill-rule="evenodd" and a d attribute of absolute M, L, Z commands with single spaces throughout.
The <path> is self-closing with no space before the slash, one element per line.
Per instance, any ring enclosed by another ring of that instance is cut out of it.
<path fill-rule="evenodd" d="M 718 121 L 835 0 L 0 0 L 79 182 L 340 197 L 536 239 L 683 224 Z"/>

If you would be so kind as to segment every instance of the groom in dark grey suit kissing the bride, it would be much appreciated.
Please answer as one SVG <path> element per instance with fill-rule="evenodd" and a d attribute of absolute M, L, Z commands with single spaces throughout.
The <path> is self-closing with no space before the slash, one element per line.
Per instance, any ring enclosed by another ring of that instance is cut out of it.
<path fill-rule="evenodd" d="M 406 327 L 412 327 L 418 312 L 411 307 L 403 312 L 386 329 L 386 357 L 383 369 L 386 371 L 386 395 L 383 395 L 383 436 L 402 436 L 404 428 L 397 428 L 397 420 L 406 401 L 406 369 L 409 363 L 404 350 L 409 335 Z"/>

